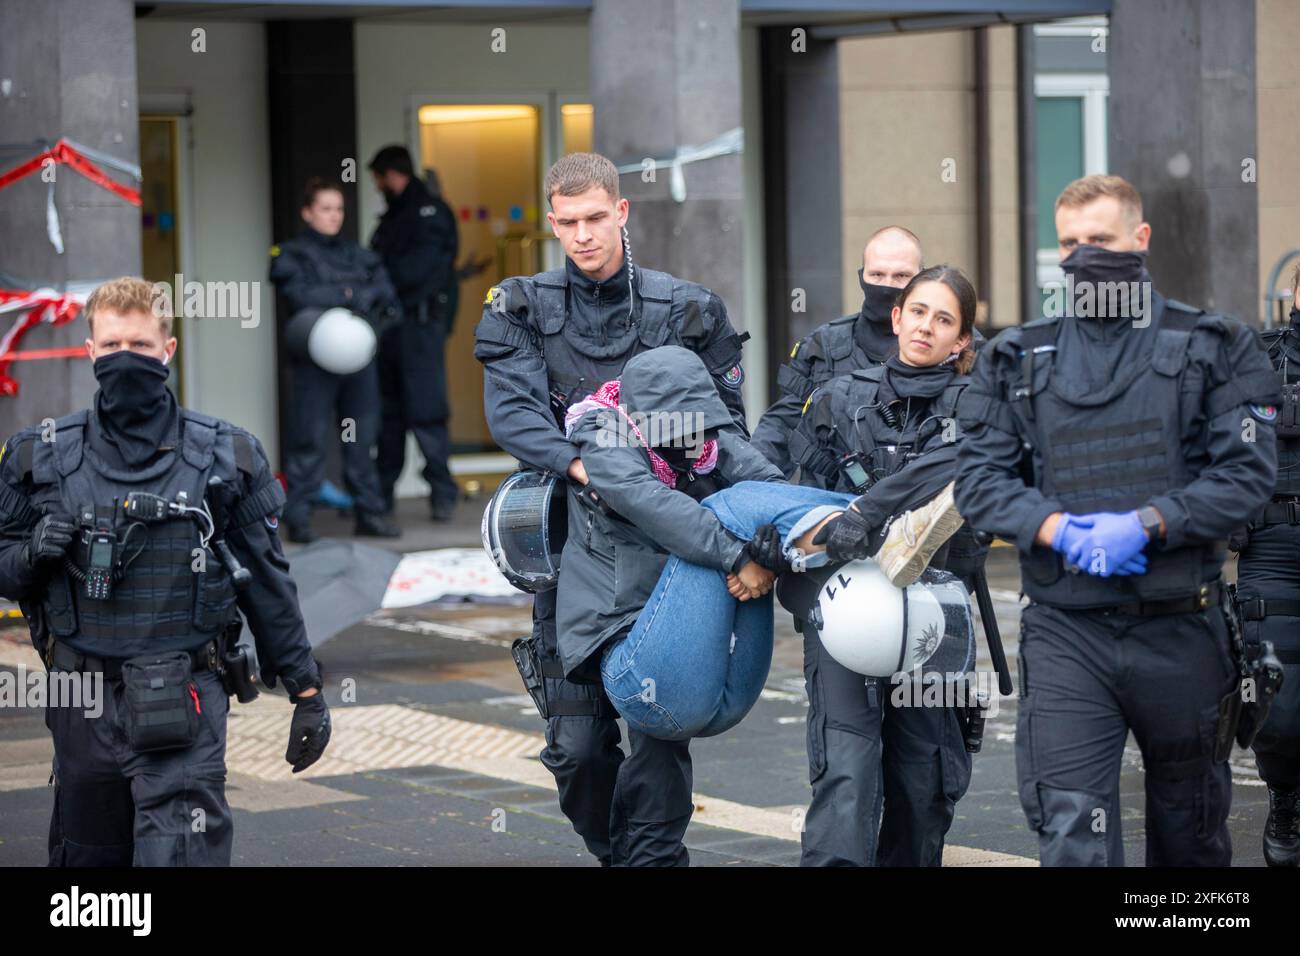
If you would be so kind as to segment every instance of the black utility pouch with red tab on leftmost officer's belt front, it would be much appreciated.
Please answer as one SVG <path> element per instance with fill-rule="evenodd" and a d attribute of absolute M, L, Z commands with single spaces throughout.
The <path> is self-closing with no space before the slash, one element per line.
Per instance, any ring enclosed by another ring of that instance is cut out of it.
<path fill-rule="evenodd" d="M 199 732 L 199 688 L 185 652 L 122 663 L 126 736 L 136 753 L 190 747 Z"/>

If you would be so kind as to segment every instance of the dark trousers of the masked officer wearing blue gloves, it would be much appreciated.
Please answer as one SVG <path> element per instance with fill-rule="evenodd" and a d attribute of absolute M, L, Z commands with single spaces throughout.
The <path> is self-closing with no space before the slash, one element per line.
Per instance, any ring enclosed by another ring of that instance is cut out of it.
<path fill-rule="evenodd" d="M 1026 607 L 1015 765 L 1041 864 L 1123 866 L 1131 730 L 1145 767 L 1147 865 L 1227 866 L 1232 778 L 1213 752 L 1235 680 L 1219 607 L 1152 618 Z"/>

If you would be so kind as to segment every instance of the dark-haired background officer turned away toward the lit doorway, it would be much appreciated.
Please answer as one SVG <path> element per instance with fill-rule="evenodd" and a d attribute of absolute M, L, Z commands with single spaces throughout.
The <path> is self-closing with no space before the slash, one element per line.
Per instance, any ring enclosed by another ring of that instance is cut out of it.
<path fill-rule="evenodd" d="M 456 317 L 450 308 L 456 282 L 456 219 L 451 207 L 415 177 L 404 146 L 385 146 L 369 169 L 389 204 L 370 248 L 384 258 L 403 311 L 402 321 L 380 338 L 380 483 L 391 506 L 393 486 L 406 464 L 406 436 L 413 433 L 424 455 L 432 516 L 448 520 L 458 489 L 447 468 L 451 410 L 443 350 Z"/>

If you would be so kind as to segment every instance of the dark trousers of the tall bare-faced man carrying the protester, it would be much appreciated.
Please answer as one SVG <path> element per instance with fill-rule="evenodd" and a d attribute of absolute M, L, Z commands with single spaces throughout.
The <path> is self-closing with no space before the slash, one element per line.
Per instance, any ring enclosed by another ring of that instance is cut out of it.
<path fill-rule="evenodd" d="M 533 636 L 543 659 L 558 658 L 555 592 L 533 601 Z M 541 758 L 555 775 L 560 809 L 601 862 L 615 866 L 685 866 L 682 845 L 690 822 L 689 741 L 658 740 L 628 731 L 632 753 L 619 747 L 618 714 L 599 684 L 546 679 L 558 700 L 599 706 L 597 715 L 552 717 Z"/>

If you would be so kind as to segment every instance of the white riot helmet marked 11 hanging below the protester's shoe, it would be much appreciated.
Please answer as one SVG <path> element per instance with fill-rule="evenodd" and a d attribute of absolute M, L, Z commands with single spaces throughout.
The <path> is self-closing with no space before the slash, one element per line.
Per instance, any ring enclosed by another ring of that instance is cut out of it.
<path fill-rule="evenodd" d="M 900 671 L 963 674 L 975 666 L 970 596 L 956 575 L 927 570 L 906 588 L 871 559 L 831 571 L 806 623 L 850 671 L 888 678 Z"/>

